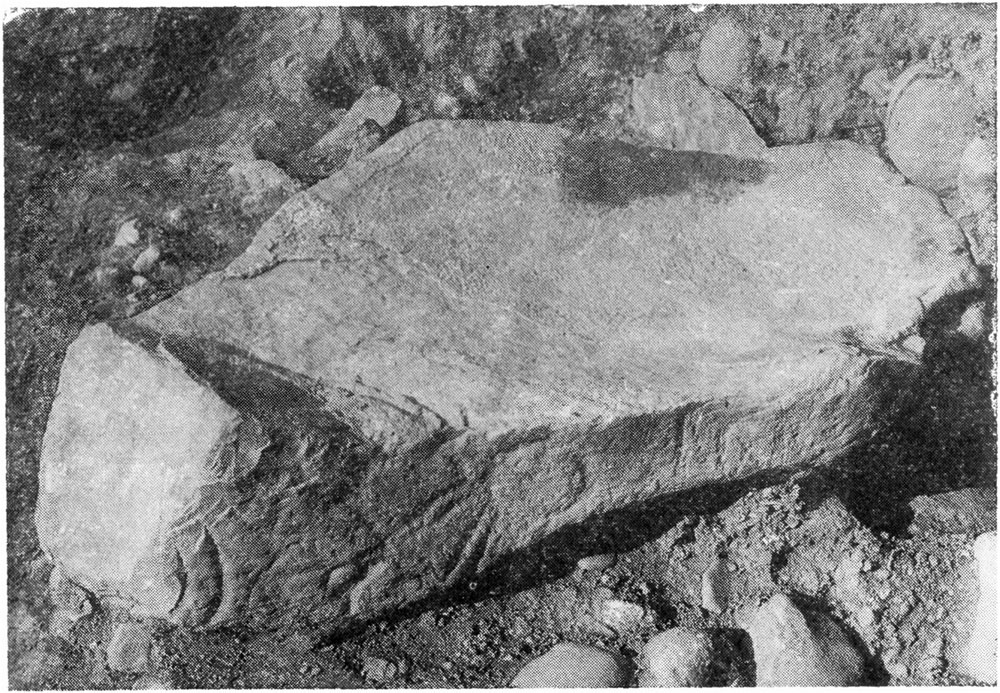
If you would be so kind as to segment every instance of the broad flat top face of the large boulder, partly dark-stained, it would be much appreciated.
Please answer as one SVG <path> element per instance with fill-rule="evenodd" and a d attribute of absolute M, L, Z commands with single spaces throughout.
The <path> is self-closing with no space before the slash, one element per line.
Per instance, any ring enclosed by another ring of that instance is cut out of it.
<path fill-rule="evenodd" d="M 604 174 L 560 161 L 629 152 L 567 151 L 564 137 L 409 128 L 290 200 L 226 280 L 140 320 L 502 430 L 794 390 L 817 372 L 805 355 L 826 358 L 819 345 L 884 349 L 928 301 L 977 281 L 936 199 L 852 143 L 783 147 L 745 169 L 663 154 L 647 164 L 677 169 L 666 194 L 609 208 L 568 189 Z M 326 321 L 377 327 L 355 349 Z"/>

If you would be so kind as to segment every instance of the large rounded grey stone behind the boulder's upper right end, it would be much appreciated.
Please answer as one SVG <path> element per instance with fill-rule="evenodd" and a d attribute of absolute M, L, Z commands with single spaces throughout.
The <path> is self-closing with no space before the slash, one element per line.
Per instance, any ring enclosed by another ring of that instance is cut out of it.
<path fill-rule="evenodd" d="M 975 119 L 974 94 L 964 79 L 916 63 L 893 84 L 886 151 L 914 183 L 936 192 L 954 189 Z"/>

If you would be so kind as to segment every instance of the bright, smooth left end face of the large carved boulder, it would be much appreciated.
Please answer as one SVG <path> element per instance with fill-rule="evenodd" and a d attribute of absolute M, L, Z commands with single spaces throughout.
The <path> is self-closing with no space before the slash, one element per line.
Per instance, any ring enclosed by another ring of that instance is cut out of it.
<path fill-rule="evenodd" d="M 86 328 L 67 352 L 43 442 L 43 548 L 94 591 L 143 584 L 156 540 L 197 501 L 238 421 L 180 364 L 107 326 Z M 157 601 L 169 609 L 171 597 Z"/>

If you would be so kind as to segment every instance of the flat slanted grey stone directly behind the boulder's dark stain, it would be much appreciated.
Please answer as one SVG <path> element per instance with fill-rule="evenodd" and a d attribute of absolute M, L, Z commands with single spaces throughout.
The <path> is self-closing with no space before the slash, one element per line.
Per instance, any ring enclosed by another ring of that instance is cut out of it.
<path fill-rule="evenodd" d="M 632 84 L 631 126 L 657 146 L 761 158 L 764 141 L 721 92 L 691 74 L 649 74 Z"/>

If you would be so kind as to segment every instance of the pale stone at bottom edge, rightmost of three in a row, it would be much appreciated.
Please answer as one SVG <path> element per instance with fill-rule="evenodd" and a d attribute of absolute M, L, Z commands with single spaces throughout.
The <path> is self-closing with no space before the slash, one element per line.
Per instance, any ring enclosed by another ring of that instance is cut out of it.
<path fill-rule="evenodd" d="M 784 594 L 760 607 L 750 625 L 758 686 L 851 686 L 863 662 L 840 626 L 808 617 Z"/>

